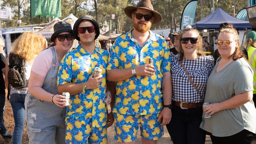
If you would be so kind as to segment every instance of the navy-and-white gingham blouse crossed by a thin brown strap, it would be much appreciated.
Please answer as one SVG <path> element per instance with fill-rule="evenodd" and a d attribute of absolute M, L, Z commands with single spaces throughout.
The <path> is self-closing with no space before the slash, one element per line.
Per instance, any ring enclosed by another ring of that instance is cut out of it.
<path fill-rule="evenodd" d="M 176 55 L 179 59 L 180 55 Z M 175 102 L 188 102 L 188 103 L 198 103 L 202 102 L 197 90 L 193 87 L 189 78 L 178 63 L 173 53 L 171 53 L 171 74 L 172 74 L 172 85 L 173 85 L 173 95 L 172 100 Z M 187 69 L 189 76 L 191 77 L 193 83 L 198 88 L 202 98 L 204 99 L 206 92 L 206 83 L 208 77 L 213 70 L 214 59 L 211 55 L 200 56 L 195 60 L 188 60 L 183 58 L 182 64 Z"/>

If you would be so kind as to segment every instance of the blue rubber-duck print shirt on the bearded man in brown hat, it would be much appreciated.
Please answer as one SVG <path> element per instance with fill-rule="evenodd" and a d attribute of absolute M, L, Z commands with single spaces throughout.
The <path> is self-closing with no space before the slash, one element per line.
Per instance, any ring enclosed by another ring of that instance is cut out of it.
<path fill-rule="evenodd" d="M 116 83 L 114 113 L 154 114 L 163 108 L 161 83 L 163 73 L 170 72 L 171 59 L 167 43 L 160 35 L 152 33 L 143 48 L 135 42 L 131 31 L 121 35 L 110 50 L 107 70 L 145 65 L 152 58 L 156 72 L 153 76 L 132 76 Z"/>

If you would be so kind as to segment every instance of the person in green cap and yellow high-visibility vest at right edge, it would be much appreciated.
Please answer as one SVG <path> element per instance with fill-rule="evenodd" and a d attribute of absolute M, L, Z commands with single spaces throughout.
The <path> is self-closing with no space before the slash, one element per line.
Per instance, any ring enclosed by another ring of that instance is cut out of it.
<path fill-rule="evenodd" d="M 248 52 L 248 63 L 253 70 L 253 102 L 256 106 L 256 31 L 250 31 L 246 35 L 245 49 Z"/>

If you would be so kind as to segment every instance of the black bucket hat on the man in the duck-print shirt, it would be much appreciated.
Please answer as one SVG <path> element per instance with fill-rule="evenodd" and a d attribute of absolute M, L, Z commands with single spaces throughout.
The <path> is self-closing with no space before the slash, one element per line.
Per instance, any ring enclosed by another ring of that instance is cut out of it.
<path fill-rule="evenodd" d="M 95 35 L 94 40 L 97 39 L 98 36 L 100 35 L 100 27 L 99 27 L 98 23 L 96 22 L 96 20 L 91 15 L 83 15 L 82 17 L 78 18 L 78 20 L 76 20 L 74 27 L 73 27 L 74 37 L 78 41 L 80 41 L 80 38 L 78 37 L 77 29 L 78 29 L 80 22 L 82 22 L 82 20 L 89 20 L 93 23 L 93 26 L 95 27 L 95 30 L 96 30 L 96 35 Z"/>

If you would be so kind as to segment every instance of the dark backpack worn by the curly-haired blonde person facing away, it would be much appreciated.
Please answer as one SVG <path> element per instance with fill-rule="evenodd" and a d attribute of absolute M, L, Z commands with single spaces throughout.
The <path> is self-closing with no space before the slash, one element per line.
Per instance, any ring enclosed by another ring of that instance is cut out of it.
<path fill-rule="evenodd" d="M 13 88 L 22 89 L 28 87 L 25 75 L 25 59 L 16 54 L 9 54 L 8 81 Z"/>

